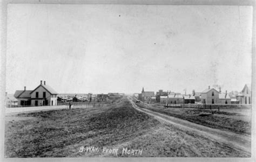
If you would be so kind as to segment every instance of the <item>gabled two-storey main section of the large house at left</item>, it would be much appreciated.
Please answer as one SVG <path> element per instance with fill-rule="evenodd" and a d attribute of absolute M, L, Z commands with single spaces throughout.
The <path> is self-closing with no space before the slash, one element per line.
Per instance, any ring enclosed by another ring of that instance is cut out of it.
<path fill-rule="evenodd" d="M 31 91 L 31 105 L 57 105 L 57 92 L 53 90 L 48 84 L 41 83 L 37 88 Z"/>

